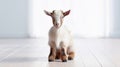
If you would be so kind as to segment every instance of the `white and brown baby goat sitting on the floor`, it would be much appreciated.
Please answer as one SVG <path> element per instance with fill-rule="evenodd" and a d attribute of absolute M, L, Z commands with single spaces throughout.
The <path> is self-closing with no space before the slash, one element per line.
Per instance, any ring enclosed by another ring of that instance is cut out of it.
<path fill-rule="evenodd" d="M 62 10 L 53 10 L 44 12 L 52 17 L 53 26 L 49 30 L 49 45 L 50 45 L 50 54 L 49 62 L 54 61 L 55 59 L 61 59 L 62 62 L 67 62 L 74 58 L 73 51 L 73 38 L 70 31 L 63 26 L 63 18 L 69 15 L 70 10 L 63 12 Z"/>

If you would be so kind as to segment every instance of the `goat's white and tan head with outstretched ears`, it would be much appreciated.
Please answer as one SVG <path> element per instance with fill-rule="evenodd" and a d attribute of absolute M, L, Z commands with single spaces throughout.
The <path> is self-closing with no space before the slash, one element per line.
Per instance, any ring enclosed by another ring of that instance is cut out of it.
<path fill-rule="evenodd" d="M 63 12 L 62 10 L 53 10 L 52 12 L 44 10 L 44 12 L 52 17 L 53 25 L 56 28 L 60 28 L 63 23 L 63 18 L 69 15 L 70 10 Z"/>

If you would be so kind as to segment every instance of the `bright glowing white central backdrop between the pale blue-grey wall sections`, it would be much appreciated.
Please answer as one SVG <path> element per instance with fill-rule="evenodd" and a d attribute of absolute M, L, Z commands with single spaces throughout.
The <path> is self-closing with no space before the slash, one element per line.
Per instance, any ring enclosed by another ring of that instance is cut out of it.
<path fill-rule="evenodd" d="M 105 37 L 109 34 L 109 0 L 31 0 L 29 9 L 32 37 L 47 37 L 51 18 L 43 10 L 71 10 L 64 24 L 79 37 Z"/>

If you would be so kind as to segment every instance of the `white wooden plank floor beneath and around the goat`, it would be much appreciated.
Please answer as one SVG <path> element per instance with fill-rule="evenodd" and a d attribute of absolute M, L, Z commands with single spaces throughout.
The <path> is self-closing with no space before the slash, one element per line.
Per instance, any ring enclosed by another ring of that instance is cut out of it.
<path fill-rule="evenodd" d="M 73 61 L 48 62 L 47 39 L 0 39 L 0 67 L 120 67 L 120 39 L 74 40 Z"/>

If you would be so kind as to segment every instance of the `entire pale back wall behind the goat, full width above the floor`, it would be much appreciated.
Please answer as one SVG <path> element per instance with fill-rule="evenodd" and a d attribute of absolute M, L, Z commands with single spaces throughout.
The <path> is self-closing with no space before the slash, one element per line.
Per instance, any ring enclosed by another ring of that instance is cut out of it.
<path fill-rule="evenodd" d="M 75 36 L 120 37 L 119 3 L 119 0 L 0 0 L 0 37 L 46 37 L 52 21 L 44 9 L 71 9 L 64 21 Z"/>

